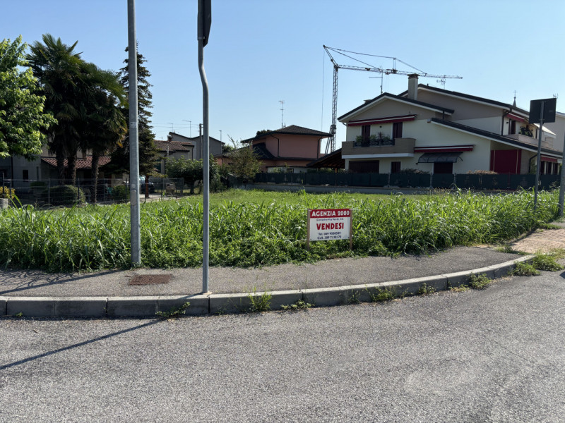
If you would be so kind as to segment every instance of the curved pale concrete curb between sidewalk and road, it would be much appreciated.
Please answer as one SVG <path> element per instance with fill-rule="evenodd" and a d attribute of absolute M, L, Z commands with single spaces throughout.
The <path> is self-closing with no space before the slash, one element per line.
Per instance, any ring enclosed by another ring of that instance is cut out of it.
<path fill-rule="evenodd" d="M 452 274 L 403 279 L 401 281 L 369 283 L 365 285 L 335 286 L 304 290 L 285 290 L 272 293 L 257 292 L 253 296 L 271 295 L 270 309 L 282 309 L 298 300 L 319 307 L 343 305 L 352 302 L 369 302 L 371 293 L 393 290 L 397 295 L 418 293 L 422 287 L 434 291 L 447 290 L 467 283 L 471 274 L 486 274 L 488 278 L 501 278 L 509 274 L 517 263 L 528 262 L 533 255 Z M 185 314 L 202 316 L 246 312 L 251 309 L 249 293 L 160 295 L 155 297 L 1 297 L 0 316 L 23 317 L 155 317 L 157 312 L 167 312 L 190 302 Z"/>

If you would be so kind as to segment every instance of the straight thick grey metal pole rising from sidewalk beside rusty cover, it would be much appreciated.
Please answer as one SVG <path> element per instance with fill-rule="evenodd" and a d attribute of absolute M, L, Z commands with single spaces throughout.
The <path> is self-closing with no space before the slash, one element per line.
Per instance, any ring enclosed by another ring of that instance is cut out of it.
<path fill-rule="evenodd" d="M 129 200 L 131 264 L 141 264 L 141 223 L 139 213 L 139 152 L 137 111 L 136 1 L 128 0 L 129 73 Z"/>

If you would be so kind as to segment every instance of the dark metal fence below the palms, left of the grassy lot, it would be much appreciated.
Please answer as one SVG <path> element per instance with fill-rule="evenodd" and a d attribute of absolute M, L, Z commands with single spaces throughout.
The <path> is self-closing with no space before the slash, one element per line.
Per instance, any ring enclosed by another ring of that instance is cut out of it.
<path fill-rule="evenodd" d="M 112 204 L 129 202 L 129 181 L 118 179 L 32 180 L 2 178 L 0 197 L 14 197 L 15 204 L 32 204 L 35 207 L 61 207 L 73 204 Z M 182 178 L 148 178 L 140 181 L 140 196 L 148 198 L 179 197 L 190 188 Z M 16 200 L 17 199 L 17 200 Z"/>

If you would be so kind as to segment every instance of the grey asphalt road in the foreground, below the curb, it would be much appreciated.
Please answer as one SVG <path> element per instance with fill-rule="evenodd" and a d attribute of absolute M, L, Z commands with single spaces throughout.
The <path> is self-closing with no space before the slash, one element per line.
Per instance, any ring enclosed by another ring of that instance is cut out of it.
<path fill-rule="evenodd" d="M 0 422 L 565 422 L 564 276 L 307 312 L 0 319 Z"/>

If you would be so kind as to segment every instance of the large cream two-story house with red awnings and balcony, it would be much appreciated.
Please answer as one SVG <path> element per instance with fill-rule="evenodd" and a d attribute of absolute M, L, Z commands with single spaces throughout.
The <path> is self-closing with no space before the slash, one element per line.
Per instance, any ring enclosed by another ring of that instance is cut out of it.
<path fill-rule="evenodd" d="M 384 93 L 339 118 L 347 125 L 342 144 L 345 168 L 396 173 L 528 173 L 535 166 L 539 125 L 515 104 L 418 85 Z M 542 173 L 558 173 L 556 133 L 542 128 Z"/>

